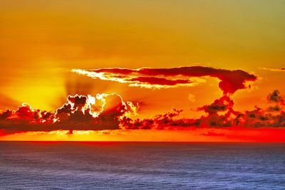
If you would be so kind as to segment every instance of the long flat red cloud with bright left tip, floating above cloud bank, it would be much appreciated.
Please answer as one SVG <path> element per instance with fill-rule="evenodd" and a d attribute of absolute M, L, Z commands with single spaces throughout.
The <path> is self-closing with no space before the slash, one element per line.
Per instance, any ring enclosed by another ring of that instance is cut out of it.
<path fill-rule="evenodd" d="M 225 70 L 203 66 L 179 68 L 100 68 L 93 70 L 73 69 L 75 73 L 90 78 L 128 83 L 142 88 L 175 88 L 201 83 L 203 77 L 218 78 L 219 88 L 224 95 L 233 94 L 239 89 L 247 88 L 248 81 L 257 80 L 257 76 L 244 70 Z M 200 80 L 199 80 L 200 78 Z"/>

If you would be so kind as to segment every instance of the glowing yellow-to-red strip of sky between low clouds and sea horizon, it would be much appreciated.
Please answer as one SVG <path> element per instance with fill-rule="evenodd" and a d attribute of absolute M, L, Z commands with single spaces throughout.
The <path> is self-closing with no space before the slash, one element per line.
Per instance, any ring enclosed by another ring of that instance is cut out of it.
<path fill-rule="evenodd" d="M 1 133 L 0 133 L 1 134 Z M 55 130 L 0 135 L 5 141 L 284 142 L 285 128 L 193 130 Z"/>

